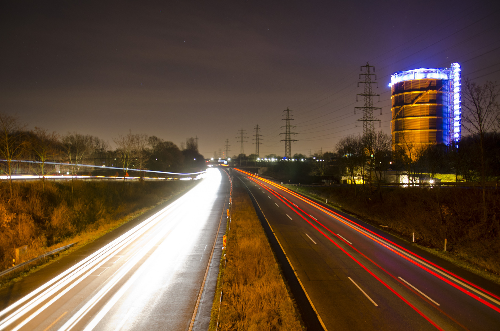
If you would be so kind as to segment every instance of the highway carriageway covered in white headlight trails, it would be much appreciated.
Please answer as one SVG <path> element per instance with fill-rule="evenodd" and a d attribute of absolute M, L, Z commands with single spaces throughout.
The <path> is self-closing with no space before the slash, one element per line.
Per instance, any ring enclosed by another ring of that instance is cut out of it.
<path fill-rule="evenodd" d="M 41 270 L 3 290 L 0 330 L 206 330 L 229 194 L 226 173 L 208 169 L 123 233 L 63 258 L 43 283 Z"/>

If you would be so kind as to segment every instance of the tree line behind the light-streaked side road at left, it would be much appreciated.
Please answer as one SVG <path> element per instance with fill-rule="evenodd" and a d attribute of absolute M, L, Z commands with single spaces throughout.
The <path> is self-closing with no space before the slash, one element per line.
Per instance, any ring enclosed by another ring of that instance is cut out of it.
<path fill-rule="evenodd" d="M 114 149 L 107 141 L 89 134 L 67 132 L 61 135 L 40 127 L 27 130 L 18 117 L 0 113 L 0 157 L 3 159 L 0 171 L 9 177 L 10 196 L 13 173 L 34 172 L 43 180 L 45 175 L 61 171 L 60 166 L 46 162 L 67 163 L 62 168 L 72 175 L 83 171 L 78 163 L 120 167 L 123 176 L 130 168 L 188 172 L 204 166 L 204 158 L 198 152 L 196 140 L 192 137 L 181 143 L 179 148 L 171 141 L 129 130 L 126 134 L 113 138 L 113 142 L 116 146 Z M 18 160 L 33 160 L 38 163 L 21 165 L 16 162 Z M 114 171 L 107 174 L 114 174 Z"/>

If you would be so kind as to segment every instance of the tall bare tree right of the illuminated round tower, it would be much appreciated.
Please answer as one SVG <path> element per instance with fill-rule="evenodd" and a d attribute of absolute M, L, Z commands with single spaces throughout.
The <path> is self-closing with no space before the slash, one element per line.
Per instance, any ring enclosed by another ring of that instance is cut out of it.
<path fill-rule="evenodd" d="M 492 81 L 486 81 L 479 85 L 468 78 L 462 85 L 462 118 L 467 130 L 479 145 L 481 157 L 481 182 L 482 182 L 482 206 L 484 220 L 487 218 L 486 208 L 486 175 L 484 162 L 484 135 L 486 132 L 495 131 L 496 124 L 500 122 L 500 113 L 496 97 L 498 96 L 498 85 Z"/>

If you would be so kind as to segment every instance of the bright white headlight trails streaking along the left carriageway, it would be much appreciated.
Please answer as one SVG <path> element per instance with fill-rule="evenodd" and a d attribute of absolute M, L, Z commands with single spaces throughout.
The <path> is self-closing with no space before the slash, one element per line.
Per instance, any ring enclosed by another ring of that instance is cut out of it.
<path fill-rule="evenodd" d="M 159 246 L 168 245 L 170 250 L 170 245 L 172 244 L 174 247 L 179 247 L 181 245 L 184 247 L 190 247 L 189 245 L 194 245 L 193 240 L 198 238 L 201 233 L 201 229 L 203 228 L 203 224 L 208 219 L 207 215 L 213 205 L 216 196 L 215 192 L 221 182 L 221 175 L 218 169 L 208 169 L 206 174 L 204 174 L 204 177 L 205 179 L 202 182 L 165 208 L 161 209 L 154 215 L 142 221 L 140 224 L 136 225 L 134 228 L 128 230 L 126 233 L 106 244 L 104 247 L 95 251 L 31 293 L 0 311 L 0 317 L 3 317 L 0 320 L 0 330 L 14 325 L 15 326 L 12 330 L 18 330 L 22 326 L 26 325 L 30 320 L 39 315 L 57 299 L 62 297 L 70 289 L 74 288 L 78 283 L 92 274 L 103 263 L 107 262 L 111 257 L 115 256 L 125 247 L 129 246 L 134 240 L 140 238 L 142 234 L 144 234 L 147 230 L 152 229 L 155 225 L 157 226 L 154 228 L 154 238 L 146 242 L 142 249 L 139 249 L 139 251 L 136 252 L 132 258 L 121 265 L 119 269 L 114 272 L 114 276 L 106 280 L 106 282 L 102 285 L 100 292 L 95 294 L 92 298 L 87 298 L 87 301 L 84 303 L 81 310 L 71 316 L 61 330 L 70 329 L 92 306 L 101 300 L 109 290 L 114 291 L 113 286 L 165 236 L 166 239 L 163 240 L 163 243 L 160 243 Z M 172 214 L 172 212 L 175 214 Z M 166 218 L 167 216 L 169 218 Z M 185 219 L 184 216 L 187 217 L 187 219 Z M 172 217 L 174 221 L 170 220 Z M 177 228 L 177 231 L 181 230 L 182 233 L 188 233 L 190 231 L 189 238 L 182 238 L 180 233 L 170 236 L 169 233 L 172 228 Z M 182 240 L 182 242 L 180 242 L 180 240 Z M 174 264 L 167 265 L 165 267 L 169 268 L 173 266 Z M 139 267 L 138 270 L 142 269 L 142 267 Z M 137 277 L 139 274 L 140 273 L 137 273 L 136 275 L 134 274 L 131 277 Z M 123 290 L 126 290 L 126 288 L 123 288 Z M 118 291 L 120 290 L 118 289 Z M 103 316 L 104 314 L 105 312 L 103 310 L 100 315 Z"/>

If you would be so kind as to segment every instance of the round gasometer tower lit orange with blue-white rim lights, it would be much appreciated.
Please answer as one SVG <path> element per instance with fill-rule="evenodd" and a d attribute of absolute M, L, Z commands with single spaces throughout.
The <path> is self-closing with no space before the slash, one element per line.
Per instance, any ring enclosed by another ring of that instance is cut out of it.
<path fill-rule="evenodd" d="M 392 150 L 450 145 L 460 138 L 460 65 L 397 71 L 390 77 Z"/>

